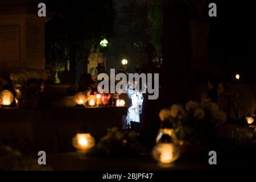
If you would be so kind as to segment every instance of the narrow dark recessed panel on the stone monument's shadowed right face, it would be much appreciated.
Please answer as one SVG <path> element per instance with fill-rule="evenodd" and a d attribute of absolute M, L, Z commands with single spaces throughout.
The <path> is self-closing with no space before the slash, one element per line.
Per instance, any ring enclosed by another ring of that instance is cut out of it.
<path fill-rule="evenodd" d="M 40 61 L 43 56 L 43 32 L 40 27 L 28 27 L 28 55 L 30 61 Z"/>

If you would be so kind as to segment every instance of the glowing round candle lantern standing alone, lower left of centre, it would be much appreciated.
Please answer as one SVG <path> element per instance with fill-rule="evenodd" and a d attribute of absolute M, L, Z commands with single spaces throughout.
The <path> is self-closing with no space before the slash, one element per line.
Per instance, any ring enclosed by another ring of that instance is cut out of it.
<path fill-rule="evenodd" d="M 95 140 L 89 133 L 78 133 L 73 138 L 73 147 L 78 152 L 86 152 L 89 148 L 92 148 L 95 144 Z"/>

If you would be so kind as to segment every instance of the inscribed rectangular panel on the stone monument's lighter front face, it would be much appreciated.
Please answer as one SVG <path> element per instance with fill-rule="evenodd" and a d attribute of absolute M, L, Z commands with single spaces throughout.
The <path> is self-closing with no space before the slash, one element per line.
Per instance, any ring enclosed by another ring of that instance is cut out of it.
<path fill-rule="evenodd" d="M 19 61 L 19 26 L 0 26 L 0 62 Z"/>

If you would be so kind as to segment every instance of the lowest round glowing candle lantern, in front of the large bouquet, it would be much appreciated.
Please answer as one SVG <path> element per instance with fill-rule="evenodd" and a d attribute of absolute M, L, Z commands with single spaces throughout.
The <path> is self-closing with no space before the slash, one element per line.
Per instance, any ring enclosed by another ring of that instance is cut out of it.
<path fill-rule="evenodd" d="M 180 150 L 173 143 L 159 143 L 153 148 L 152 156 L 162 164 L 170 164 L 179 158 Z"/>

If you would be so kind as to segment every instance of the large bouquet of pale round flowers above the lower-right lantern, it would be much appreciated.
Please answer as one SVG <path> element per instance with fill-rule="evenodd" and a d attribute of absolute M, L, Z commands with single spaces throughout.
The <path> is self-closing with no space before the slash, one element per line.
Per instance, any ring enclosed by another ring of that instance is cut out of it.
<path fill-rule="evenodd" d="M 162 126 L 171 126 L 180 140 L 200 140 L 208 142 L 217 136 L 217 126 L 226 121 L 226 113 L 218 109 L 214 102 L 201 105 L 189 101 L 183 107 L 174 104 L 159 113 Z"/>

